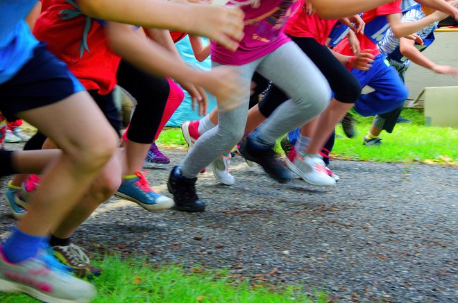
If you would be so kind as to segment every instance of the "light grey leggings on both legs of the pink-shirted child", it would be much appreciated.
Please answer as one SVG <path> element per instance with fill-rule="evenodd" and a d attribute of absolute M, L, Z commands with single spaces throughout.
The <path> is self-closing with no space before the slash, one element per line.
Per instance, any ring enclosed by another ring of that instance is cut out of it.
<path fill-rule="evenodd" d="M 217 65 L 213 63 L 213 66 Z M 275 144 L 280 136 L 318 116 L 331 98 L 328 82 L 294 42 L 283 44 L 269 55 L 238 66 L 238 69 L 245 83 L 242 88 L 245 92 L 244 103 L 235 110 L 219 112 L 218 125 L 199 137 L 181 165 L 186 178 L 195 178 L 203 168 L 227 153 L 243 137 L 251 78 L 255 71 L 291 96 L 257 128 L 257 138 L 268 144 Z"/>

